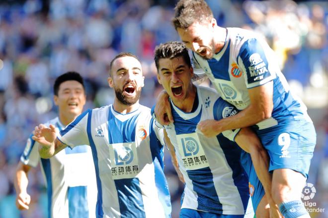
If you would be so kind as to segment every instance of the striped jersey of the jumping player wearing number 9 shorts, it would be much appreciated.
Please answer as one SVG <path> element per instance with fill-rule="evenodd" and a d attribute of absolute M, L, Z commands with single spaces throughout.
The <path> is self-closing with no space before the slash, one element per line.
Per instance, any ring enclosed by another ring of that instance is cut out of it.
<path fill-rule="evenodd" d="M 282 119 L 311 120 L 302 101 L 292 95 L 274 52 L 253 32 L 227 28 L 223 49 L 210 60 L 193 53 L 193 65 L 196 74 L 205 72 L 221 97 L 240 110 L 250 104 L 247 89 L 273 80 L 272 116 L 257 123 L 259 129 Z"/>

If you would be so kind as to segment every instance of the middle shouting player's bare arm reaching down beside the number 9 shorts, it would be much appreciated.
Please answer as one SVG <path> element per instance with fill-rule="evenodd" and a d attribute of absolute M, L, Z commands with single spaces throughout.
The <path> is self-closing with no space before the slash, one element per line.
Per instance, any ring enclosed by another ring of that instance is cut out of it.
<path fill-rule="evenodd" d="M 243 128 L 237 134 L 235 141 L 250 154 L 256 175 L 263 185 L 266 199 L 270 205 L 270 218 L 282 218 L 278 206 L 271 196 L 272 175 L 269 173 L 269 156 L 257 135 L 250 128 Z"/>

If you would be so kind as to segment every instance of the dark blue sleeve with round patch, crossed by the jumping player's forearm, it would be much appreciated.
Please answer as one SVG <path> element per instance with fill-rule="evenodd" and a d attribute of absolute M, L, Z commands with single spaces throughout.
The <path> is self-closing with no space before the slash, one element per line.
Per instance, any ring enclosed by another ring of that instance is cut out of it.
<path fill-rule="evenodd" d="M 229 116 L 236 115 L 238 112 L 239 110 L 236 109 L 235 106 L 224 101 L 222 98 L 218 98 L 213 106 L 213 115 L 215 120 L 220 120 Z M 239 131 L 240 129 L 226 130 L 223 131 L 222 134 L 231 141 L 234 141 Z"/>

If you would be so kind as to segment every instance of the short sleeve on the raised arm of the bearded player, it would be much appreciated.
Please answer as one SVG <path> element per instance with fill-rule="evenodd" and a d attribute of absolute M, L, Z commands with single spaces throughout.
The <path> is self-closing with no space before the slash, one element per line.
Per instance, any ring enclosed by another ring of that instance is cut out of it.
<path fill-rule="evenodd" d="M 60 131 L 57 138 L 70 148 L 78 145 L 89 145 L 87 135 L 87 125 L 90 125 L 89 118 L 91 110 L 83 112 L 73 122 L 71 122 L 64 130 Z"/>

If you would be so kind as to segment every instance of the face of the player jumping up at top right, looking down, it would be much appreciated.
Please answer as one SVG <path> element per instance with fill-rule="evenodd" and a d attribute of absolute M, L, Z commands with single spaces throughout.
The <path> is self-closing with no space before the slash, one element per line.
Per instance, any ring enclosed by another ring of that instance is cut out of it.
<path fill-rule="evenodd" d="M 211 59 L 215 54 L 214 27 L 215 19 L 210 23 L 194 22 L 187 29 L 177 28 L 177 32 L 184 45 L 196 52 L 204 59 Z"/>

